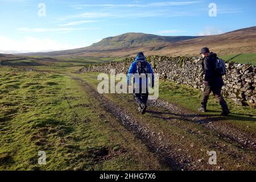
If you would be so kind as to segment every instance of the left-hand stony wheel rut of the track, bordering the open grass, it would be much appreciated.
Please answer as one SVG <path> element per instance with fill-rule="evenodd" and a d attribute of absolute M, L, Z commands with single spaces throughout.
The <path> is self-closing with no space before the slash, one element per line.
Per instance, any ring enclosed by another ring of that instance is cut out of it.
<path fill-rule="evenodd" d="M 80 78 L 73 77 L 74 80 L 77 80 L 85 86 L 88 94 L 96 98 L 103 109 L 111 113 L 118 121 L 121 121 L 122 124 L 126 127 L 127 130 L 134 133 L 134 135 L 141 139 L 144 144 L 150 149 L 151 152 L 154 152 L 159 156 L 159 162 L 163 166 L 167 166 L 171 170 L 189 170 L 191 169 L 185 163 L 180 163 L 180 160 L 188 161 L 188 159 L 180 159 L 180 154 L 176 154 L 172 150 L 172 146 L 169 143 L 164 143 L 164 139 L 159 140 L 158 136 L 155 136 L 154 131 L 151 131 L 149 127 L 142 126 L 141 123 L 129 114 L 125 109 L 115 105 L 108 98 L 104 97 L 102 94 L 99 94 L 91 85 L 89 85 L 84 80 Z M 179 160 L 176 160 L 176 157 L 179 156 Z M 200 169 L 200 168 L 198 168 Z"/>

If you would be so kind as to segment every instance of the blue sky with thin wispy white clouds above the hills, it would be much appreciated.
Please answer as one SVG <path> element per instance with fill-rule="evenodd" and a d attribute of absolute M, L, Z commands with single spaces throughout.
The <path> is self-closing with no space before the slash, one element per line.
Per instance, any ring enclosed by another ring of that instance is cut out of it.
<path fill-rule="evenodd" d="M 210 3 L 217 6 L 215 17 Z M 255 7 L 255 0 L 0 0 L 0 53 L 86 47 L 126 32 L 221 34 L 256 26 Z"/>

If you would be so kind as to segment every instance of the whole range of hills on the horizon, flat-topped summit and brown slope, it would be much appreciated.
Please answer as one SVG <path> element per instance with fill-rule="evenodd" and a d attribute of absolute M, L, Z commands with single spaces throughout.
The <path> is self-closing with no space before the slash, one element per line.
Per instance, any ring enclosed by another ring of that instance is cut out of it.
<path fill-rule="evenodd" d="M 212 36 L 159 36 L 127 33 L 102 39 L 92 46 L 47 53 L 22 55 L 44 56 L 130 56 L 139 51 L 146 55 L 198 55 L 201 47 L 209 47 L 220 55 L 256 52 L 256 27 L 243 28 Z"/>

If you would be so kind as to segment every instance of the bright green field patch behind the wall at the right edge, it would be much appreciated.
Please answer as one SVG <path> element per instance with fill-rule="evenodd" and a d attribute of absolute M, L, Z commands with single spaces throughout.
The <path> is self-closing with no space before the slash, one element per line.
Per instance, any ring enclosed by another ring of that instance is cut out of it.
<path fill-rule="evenodd" d="M 225 61 L 234 61 L 236 63 L 250 63 L 256 65 L 256 53 L 243 53 L 239 55 L 220 56 Z"/>

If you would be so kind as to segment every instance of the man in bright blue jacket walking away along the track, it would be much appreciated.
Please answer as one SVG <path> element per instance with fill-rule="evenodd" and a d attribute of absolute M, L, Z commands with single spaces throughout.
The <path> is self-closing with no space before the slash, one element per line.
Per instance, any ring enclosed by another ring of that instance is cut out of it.
<path fill-rule="evenodd" d="M 127 74 L 127 84 L 130 85 L 130 78 L 135 75 L 134 85 L 138 85 L 139 89 L 134 86 L 134 99 L 137 101 L 141 114 L 146 113 L 147 99 L 148 99 L 148 77 L 152 78 L 151 86 L 154 87 L 154 72 L 150 63 L 147 62 L 143 52 L 139 52 L 135 61 L 131 64 Z M 143 79 L 142 76 L 145 76 Z M 139 79 L 137 79 L 139 77 Z M 143 85 L 146 85 L 146 90 L 143 89 Z"/>

